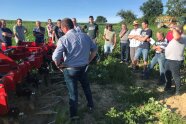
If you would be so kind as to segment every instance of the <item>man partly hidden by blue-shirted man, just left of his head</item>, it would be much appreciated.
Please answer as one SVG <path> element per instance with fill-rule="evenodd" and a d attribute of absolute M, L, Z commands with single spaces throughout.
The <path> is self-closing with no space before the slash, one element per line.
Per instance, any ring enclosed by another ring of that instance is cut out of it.
<path fill-rule="evenodd" d="M 63 31 L 61 30 L 61 20 L 58 19 L 56 26 L 54 26 L 53 32 L 52 32 L 52 40 L 58 41 L 60 37 L 64 35 Z"/>

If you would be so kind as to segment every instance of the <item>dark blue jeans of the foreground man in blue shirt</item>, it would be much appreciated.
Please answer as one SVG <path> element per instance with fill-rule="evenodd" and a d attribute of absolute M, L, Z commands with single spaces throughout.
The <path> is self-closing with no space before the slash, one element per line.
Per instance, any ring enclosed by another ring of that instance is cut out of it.
<path fill-rule="evenodd" d="M 86 66 L 78 68 L 65 68 L 63 74 L 69 92 L 70 117 L 77 115 L 78 108 L 78 81 L 80 81 L 83 88 L 88 107 L 93 107 L 92 93 L 87 79 Z"/>

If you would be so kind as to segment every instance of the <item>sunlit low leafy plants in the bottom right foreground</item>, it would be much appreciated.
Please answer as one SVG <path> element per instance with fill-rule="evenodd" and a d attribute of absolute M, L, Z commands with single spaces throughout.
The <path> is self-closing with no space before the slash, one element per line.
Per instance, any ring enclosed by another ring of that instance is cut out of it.
<path fill-rule="evenodd" d="M 163 124 L 177 124 L 186 123 L 180 116 L 171 112 L 166 105 L 156 101 L 154 98 L 150 98 L 147 103 L 141 106 L 132 106 L 128 110 L 123 112 L 117 111 L 112 107 L 106 116 L 110 122 L 115 124 L 126 123 L 126 124 L 144 124 L 144 123 L 163 123 Z"/>

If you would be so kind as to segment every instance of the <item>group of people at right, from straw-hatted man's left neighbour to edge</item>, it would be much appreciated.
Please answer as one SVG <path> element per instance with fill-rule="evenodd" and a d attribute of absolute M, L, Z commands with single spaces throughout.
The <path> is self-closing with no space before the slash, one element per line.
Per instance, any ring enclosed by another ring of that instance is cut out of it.
<path fill-rule="evenodd" d="M 149 75 L 154 66 L 158 63 L 160 72 L 158 84 L 165 85 L 164 90 L 169 91 L 171 90 L 173 79 L 175 82 L 175 94 L 180 94 L 180 69 L 184 64 L 184 50 L 186 46 L 185 28 L 176 25 L 176 23 L 171 23 L 166 36 L 162 31 L 158 31 L 155 32 L 156 39 L 154 40 L 152 39 L 153 31 L 149 29 L 147 20 L 142 22 L 142 29 L 139 28 L 137 21 L 133 22 L 133 26 L 134 29 L 129 33 L 126 24 L 122 24 L 121 26 L 121 32 L 119 34 L 121 44 L 121 63 L 128 63 L 128 56 L 130 55 L 132 68 L 135 71 L 137 70 L 140 56 L 142 55 L 143 79 L 149 79 Z M 122 32 L 125 32 L 127 36 Z M 148 61 L 149 51 L 151 49 L 155 54 L 153 58 Z M 125 56 L 125 59 L 123 59 L 123 55 Z"/>

